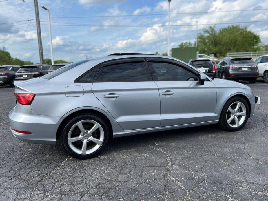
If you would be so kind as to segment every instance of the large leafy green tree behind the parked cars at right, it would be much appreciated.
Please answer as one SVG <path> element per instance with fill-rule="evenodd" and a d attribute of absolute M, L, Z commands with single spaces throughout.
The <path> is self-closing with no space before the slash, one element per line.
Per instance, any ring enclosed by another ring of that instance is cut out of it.
<path fill-rule="evenodd" d="M 247 27 L 231 25 L 217 32 L 215 26 L 210 26 L 202 34 L 198 34 L 198 51 L 224 57 L 227 52 L 257 51 L 260 42 L 260 36 Z"/>

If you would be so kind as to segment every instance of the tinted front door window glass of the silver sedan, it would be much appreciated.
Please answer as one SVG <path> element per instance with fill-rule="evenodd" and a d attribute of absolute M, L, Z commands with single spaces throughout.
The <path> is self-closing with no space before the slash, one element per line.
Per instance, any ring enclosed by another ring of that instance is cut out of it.
<path fill-rule="evenodd" d="M 198 76 L 181 66 L 152 62 L 158 81 L 197 81 Z"/>

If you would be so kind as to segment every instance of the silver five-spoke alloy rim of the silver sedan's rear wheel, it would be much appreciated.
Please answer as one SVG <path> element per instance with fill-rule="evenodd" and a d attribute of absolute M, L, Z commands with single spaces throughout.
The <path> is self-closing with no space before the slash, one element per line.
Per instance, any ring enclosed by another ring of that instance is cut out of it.
<path fill-rule="evenodd" d="M 81 120 L 75 123 L 68 133 L 68 145 L 76 154 L 87 155 L 97 151 L 104 140 L 101 125 L 94 120 Z"/>

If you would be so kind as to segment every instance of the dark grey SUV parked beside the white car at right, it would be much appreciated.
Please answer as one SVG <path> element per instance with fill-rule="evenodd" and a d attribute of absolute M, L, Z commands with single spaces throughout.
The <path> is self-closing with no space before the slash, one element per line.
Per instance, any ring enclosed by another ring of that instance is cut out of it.
<path fill-rule="evenodd" d="M 247 80 L 255 83 L 259 76 L 258 64 L 250 57 L 226 57 L 216 67 L 216 76 L 228 80 Z"/>

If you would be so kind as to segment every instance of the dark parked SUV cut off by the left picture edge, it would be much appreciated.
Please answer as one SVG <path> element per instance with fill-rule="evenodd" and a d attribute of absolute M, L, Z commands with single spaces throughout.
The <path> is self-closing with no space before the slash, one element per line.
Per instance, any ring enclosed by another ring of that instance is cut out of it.
<path fill-rule="evenodd" d="M 14 87 L 15 73 L 19 70 L 18 65 L 0 66 L 0 85 L 10 85 Z"/>

